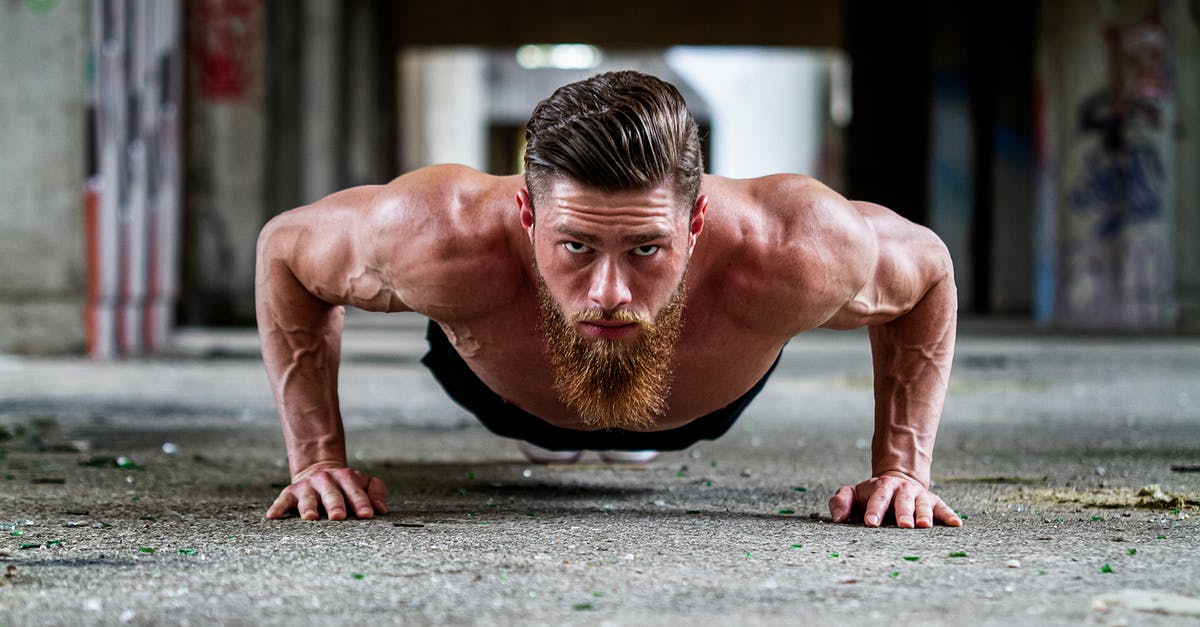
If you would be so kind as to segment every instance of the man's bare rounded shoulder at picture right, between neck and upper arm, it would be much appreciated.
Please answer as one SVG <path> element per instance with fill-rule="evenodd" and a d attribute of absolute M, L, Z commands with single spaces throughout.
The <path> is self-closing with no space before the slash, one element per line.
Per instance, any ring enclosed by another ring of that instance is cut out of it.
<path fill-rule="evenodd" d="M 792 335 L 820 326 L 868 281 L 877 256 L 870 225 L 816 179 L 778 174 L 712 178 L 710 213 L 725 204 L 730 275 L 757 303 L 754 317 Z M 719 204 L 720 203 L 720 204 Z"/>

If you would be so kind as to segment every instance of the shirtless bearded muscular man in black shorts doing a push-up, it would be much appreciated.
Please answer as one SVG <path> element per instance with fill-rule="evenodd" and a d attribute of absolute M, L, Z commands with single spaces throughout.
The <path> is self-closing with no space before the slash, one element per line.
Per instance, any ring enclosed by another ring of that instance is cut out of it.
<path fill-rule="evenodd" d="M 446 392 L 547 453 L 715 438 L 790 338 L 869 326 L 871 478 L 830 498 L 833 520 L 961 524 L 929 490 L 956 315 L 935 234 L 808 177 L 704 175 L 683 97 L 647 74 L 560 88 L 527 141 L 524 177 L 422 168 L 263 229 L 258 327 L 292 470 L 268 518 L 386 512 L 384 483 L 346 458 L 353 305 L 428 316 L 424 363 Z"/>

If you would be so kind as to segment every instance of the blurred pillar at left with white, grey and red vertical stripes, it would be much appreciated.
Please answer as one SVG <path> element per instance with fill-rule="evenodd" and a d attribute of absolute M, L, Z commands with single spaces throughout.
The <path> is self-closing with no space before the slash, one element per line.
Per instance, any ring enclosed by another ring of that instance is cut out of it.
<path fill-rule="evenodd" d="M 182 2 L 91 2 L 88 354 L 167 345 L 179 293 Z"/>

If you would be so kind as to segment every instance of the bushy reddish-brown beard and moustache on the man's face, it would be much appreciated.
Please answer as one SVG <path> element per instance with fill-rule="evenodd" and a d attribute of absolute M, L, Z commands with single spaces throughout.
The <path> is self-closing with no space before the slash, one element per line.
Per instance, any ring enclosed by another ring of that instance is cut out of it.
<path fill-rule="evenodd" d="M 586 426 L 650 431 L 666 414 L 674 345 L 683 329 L 684 285 L 680 280 L 653 321 L 629 310 L 590 309 L 568 317 L 538 273 L 538 310 L 554 389 Z M 635 322 L 641 335 L 628 347 L 580 335 L 578 323 L 595 320 Z"/>

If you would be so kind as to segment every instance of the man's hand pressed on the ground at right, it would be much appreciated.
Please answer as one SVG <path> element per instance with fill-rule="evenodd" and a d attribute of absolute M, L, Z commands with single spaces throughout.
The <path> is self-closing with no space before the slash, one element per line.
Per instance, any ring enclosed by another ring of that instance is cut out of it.
<path fill-rule="evenodd" d="M 845 522 L 862 513 L 866 526 L 877 527 L 889 510 L 901 529 L 928 529 L 938 522 L 950 527 L 962 525 L 962 519 L 940 496 L 917 479 L 898 472 L 845 485 L 829 500 L 834 522 Z"/>

